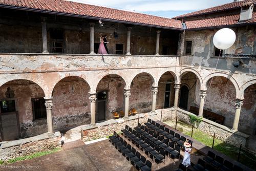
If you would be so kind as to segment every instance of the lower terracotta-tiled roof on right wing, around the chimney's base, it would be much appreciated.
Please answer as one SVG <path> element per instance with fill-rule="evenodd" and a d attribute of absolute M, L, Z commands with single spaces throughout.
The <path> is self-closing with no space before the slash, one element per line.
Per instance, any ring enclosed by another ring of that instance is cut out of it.
<path fill-rule="evenodd" d="M 256 12 L 252 13 L 252 18 L 244 23 L 238 23 L 240 14 L 227 15 L 214 18 L 205 18 L 198 20 L 191 20 L 185 22 L 187 29 L 196 28 L 207 28 L 207 27 L 217 27 L 217 26 L 227 26 L 227 25 L 239 25 L 244 23 L 256 23 Z"/>

